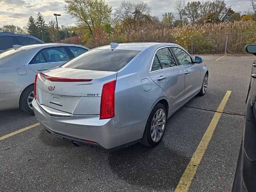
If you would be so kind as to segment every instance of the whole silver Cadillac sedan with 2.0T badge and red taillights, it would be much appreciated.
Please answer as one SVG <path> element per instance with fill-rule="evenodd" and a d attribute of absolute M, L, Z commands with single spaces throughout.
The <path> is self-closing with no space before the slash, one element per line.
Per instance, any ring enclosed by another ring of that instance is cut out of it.
<path fill-rule="evenodd" d="M 171 43 L 111 43 L 35 78 L 38 121 L 75 146 L 156 146 L 166 120 L 208 86 L 208 69 Z"/>

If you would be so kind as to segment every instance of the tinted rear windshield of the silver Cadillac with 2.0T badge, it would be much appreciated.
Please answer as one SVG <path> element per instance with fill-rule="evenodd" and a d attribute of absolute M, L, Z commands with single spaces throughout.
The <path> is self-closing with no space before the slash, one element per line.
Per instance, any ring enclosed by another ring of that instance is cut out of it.
<path fill-rule="evenodd" d="M 65 68 L 118 71 L 130 62 L 140 51 L 121 49 L 90 50 L 62 65 Z"/>

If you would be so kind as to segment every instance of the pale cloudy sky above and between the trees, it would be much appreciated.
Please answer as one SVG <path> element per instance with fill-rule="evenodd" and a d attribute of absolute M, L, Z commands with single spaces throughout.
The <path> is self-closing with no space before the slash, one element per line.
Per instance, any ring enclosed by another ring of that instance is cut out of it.
<path fill-rule="evenodd" d="M 130 0 L 131 2 L 138 2 Z M 185 0 L 191 2 L 195 0 Z M 112 9 L 118 8 L 121 0 L 106 0 Z M 165 12 L 175 12 L 174 5 L 176 0 L 144 0 L 152 8 L 152 16 L 162 18 Z M 4 24 L 14 24 L 17 26 L 26 26 L 30 16 L 36 17 L 40 12 L 46 23 L 55 20 L 54 13 L 61 14 L 58 17 L 58 24 L 70 26 L 76 23 L 76 19 L 66 14 L 64 11 L 64 0 L 0 0 L 0 26 Z M 226 5 L 231 6 L 234 11 L 245 12 L 250 8 L 249 0 L 226 0 Z"/>

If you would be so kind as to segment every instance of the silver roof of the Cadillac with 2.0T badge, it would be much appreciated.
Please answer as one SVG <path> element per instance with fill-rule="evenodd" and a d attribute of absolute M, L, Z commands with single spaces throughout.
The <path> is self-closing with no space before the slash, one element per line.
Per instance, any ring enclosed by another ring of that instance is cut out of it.
<path fill-rule="evenodd" d="M 179 46 L 174 43 L 158 43 L 158 42 L 137 42 L 137 43 L 120 43 L 114 49 L 122 49 L 122 50 L 138 50 L 144 51 L 149 47 L 159 48 L 162 46 Z M 180 46 L 179 46 L 180 47 Z M 105 46 L 100 46 L 94 49 L 111 49 L 110 44 Z"/>

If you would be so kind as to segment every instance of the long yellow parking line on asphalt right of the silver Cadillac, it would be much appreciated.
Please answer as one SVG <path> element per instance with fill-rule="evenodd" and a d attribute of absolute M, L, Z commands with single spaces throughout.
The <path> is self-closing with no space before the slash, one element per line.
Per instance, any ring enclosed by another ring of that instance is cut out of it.
<path fill-rule="evenodd" d="M 188 163 L 188 166 L 184 171 L 180 182 L 178 183 L 178 186 L 176 187 L 174 192 L 188 192 L 190 184 L 196 174 L 196 170 L 202 160 L 202 157 L 204 156 L 205 150 L 212 138 L 212 134 L 218 124 L 218 121 L 220 120 L 220 116 L 224 110 L 226 102 L 228 101 L 230 93 L 231 91 L 227 91 L 224 98 L 222 99 L 217 111 L 212 118 L 212 121 L 210 122 L 206 132 L 204 133 L 204 136 L 202 137 L 198 147 L 196 148 L 196 151 L 194 152 L 190 162 Z"/>

